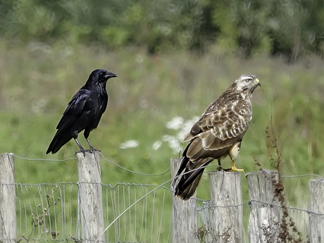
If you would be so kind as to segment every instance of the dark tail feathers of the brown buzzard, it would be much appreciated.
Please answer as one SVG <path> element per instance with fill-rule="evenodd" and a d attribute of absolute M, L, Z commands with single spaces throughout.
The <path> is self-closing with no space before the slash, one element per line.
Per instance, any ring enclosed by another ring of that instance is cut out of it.
<path fill-rule="evenodd" d="M 201 179 L 201 175 L 204 172 L 203 168 L 195 168 L 194 170 L 189 167 L 189 158 L 184 156 L 181 161 L 181 165 L 179 170 L 177 171 L 177 175 L 173 181 L 173 185 L 177 182 L 179 175 L 182 173 L 177 186 L 175 187 L 175 197 L 179 197 L 182 200 L 188 200 L 194 192 L 196 192 L 197 186 Z"/>

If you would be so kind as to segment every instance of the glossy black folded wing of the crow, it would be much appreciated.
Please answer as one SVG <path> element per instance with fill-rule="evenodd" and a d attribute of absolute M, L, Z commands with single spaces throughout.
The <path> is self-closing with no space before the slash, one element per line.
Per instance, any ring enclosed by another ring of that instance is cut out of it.
<path fill-rule="evenodd" d="M 75 123 L 75 120 L 82 114 L 85 104 L 89 99 L 90 91 L 88 89 L 80 89 L 72 98 L 66 111 L 63 113 L 63 117 L 59 121 L 56 129 L 59 131 L 66 130 Z"/>

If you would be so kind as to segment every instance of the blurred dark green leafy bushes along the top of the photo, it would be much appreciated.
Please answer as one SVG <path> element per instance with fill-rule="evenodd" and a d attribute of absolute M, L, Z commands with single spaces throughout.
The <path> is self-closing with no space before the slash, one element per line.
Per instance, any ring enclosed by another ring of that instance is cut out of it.
<path fill-rule="evenodd" d="M 1 1 L 0 34 L 23 41 L 99 42 L 109 49 L 141 46 L 249 57 L 258 52 L 323 56 L 320 1 L 95 0 Z"/>

